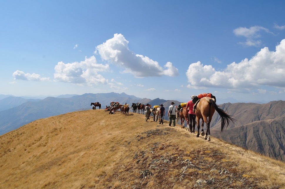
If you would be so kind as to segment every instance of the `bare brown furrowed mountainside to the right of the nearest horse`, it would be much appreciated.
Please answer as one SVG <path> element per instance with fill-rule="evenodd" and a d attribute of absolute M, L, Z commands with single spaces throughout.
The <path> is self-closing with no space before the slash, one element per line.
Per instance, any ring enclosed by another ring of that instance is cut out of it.
<path fill-rule="evenodd" d="M 266 104 L 227 103 L 220 107 L 237 121 L 220 132 L 219 115 L 214 114 L 211 134 L 231 144 L 285 161 L 285 101 Z"/>

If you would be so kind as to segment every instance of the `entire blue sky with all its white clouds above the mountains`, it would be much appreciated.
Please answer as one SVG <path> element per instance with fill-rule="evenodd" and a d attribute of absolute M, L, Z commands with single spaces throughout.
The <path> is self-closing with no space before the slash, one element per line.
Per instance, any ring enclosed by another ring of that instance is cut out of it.
<path fill-rule="evenodd" d="M 285 1 L 1 1 L 0 94 L 285 100 L 284 7 Z"/>

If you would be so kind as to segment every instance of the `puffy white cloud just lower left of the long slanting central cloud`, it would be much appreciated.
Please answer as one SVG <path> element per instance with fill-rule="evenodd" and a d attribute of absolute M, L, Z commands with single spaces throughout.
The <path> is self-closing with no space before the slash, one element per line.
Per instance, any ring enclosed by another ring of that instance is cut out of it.
<path fill-rule="evenodd" d="M 81 62 L 58 62 L 54 70 L 54 79 L 59 82 L 87 83 L 90 86 L 108 83 L 98 72 L 108 71 L 109 65 L 98 64 L 95 56 L 85 57 Z"/>

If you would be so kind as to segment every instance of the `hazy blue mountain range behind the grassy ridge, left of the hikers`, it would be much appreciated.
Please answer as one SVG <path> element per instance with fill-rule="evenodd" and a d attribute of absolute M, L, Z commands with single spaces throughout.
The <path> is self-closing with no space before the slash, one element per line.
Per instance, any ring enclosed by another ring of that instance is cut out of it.
<path fill-rule="evenodd" d="M 30 123 L 34 120 L 65 114 L 67 112 L 92 109 L 91 102 L 100 102 L 101 108 L 110 105 L 110 102 L 121 104 L 153 104 L 166 103 L 171 101 L 164 99 L 138 98 L 125 93 L 86 93 L 82 95 L 70 94 L 58 97 L 46 97 L 45 99 L 25 99 L 23 97 L 8 96 L 0 100 L 0 135 Z M 173 100 L 172 100 L 173 101 Z M 178 101 L 175 101 L 179 103 Z M 97 107 L 98 108 L 98 107 Z M 168 118 L 167 118 L 168 119 Z"/>

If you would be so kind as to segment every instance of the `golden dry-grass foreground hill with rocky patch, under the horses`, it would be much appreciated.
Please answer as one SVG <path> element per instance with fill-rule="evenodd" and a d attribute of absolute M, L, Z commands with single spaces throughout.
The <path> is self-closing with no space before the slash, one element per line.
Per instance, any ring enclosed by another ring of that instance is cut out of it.
<path fill-rule="evenodd" d="M 167 123 L 85 110 L 0 136 L 1 188 L 285 188 L 285 164 Z"/>

